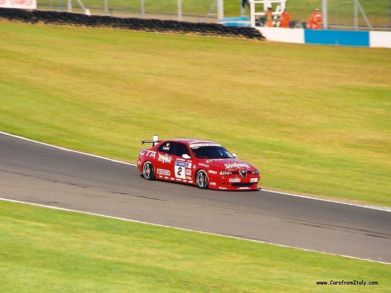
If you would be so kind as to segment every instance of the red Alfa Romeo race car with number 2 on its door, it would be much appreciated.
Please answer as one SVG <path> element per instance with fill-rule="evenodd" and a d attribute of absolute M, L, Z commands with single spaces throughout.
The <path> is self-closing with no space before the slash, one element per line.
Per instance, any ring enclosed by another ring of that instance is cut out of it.
<path fill-rule="evenodd" d="M 196 185 L 201 189 L 256 190 L 260 172 L 239 160 L 223 146 L 203 140 L 172 139 L 152 143 L 137 159 L 146 180 L 166 180 Z"/>

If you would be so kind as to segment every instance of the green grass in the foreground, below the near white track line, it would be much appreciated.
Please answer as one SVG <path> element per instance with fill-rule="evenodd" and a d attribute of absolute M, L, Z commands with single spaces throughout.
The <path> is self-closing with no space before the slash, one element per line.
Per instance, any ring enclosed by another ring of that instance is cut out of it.
<path fill-rule="evenodd" d="M 0 292 L 390 292 L 390 265 L 0 201 Z M 375 286 L 316 285 L 376 281 Z"/>

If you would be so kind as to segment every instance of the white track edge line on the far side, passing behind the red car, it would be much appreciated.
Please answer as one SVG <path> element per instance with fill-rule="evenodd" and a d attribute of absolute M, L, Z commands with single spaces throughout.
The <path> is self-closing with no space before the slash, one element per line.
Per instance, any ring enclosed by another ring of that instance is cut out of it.
<path fill-rule="evenodd" d="M 127 163 L 127 162 L 123 162 L 123 161 L 119 161 L 119 160 L 114 160 L 114 159 L 110 159 L 110 158 L 106 158 L 106 157 L 102 157 L 102 156 L 98 156 L 98 155 L 93 155 L 93 154 L 89 154 L 89 153 L 86 153 L 86 152 L 81 152 L 81 151 L 65 148 L 65 147 L 62 147 L 62 146 L 53 146 L 53 145 L 49 145 L 49 144 L 46 144 L 46 143 L 42 143 L 42 142 L 39 142 L 39 141 L 35 141 L 35 140 L 29 139 L 29 138 L 25 138 L 25 137 L 22 137 L 22 136 L 10 134 L 10 133 L 3 132 L 3 131 L 0 131 L 0 134 L 12 136 L 12 137 L 19 138 L 19 139 L 22 139 L 22 140 L 26 140 L 26 141 L 29 141 L 29 142 L 33 142 L 33 143 L 36 143 L 36 144 L 40 144 L 40 145 L 43 145 L 43 146 L 51 146 L 51 147 L 55 147 L 55 148 L 58 148 L 58 149 L 61 149 L 61 150 L 71 151 L 71 152 L 74 152 L 74 153 L 83 154 L 83 155 L 87 155 L 87 156 L 91 156 L 91 157 L 95 157 L 95 158 L 99 158 L 99 159 L 103 159 L 103 160 L 108 160 L 108 161 L 115 162 L 115 163 L 127 164 L 127 165 L 130 165 L 130 166 L 137 167 L 137 165 L 135 165 L 135 164 L 131 164 L 131 163 Z M 305 196 L 305 195 L 299 195 L 299 194 L 293 194 L 293 193 L 286 193 L 286 192 L 275 191 L 275 190 L 268 190 L 268 189 L 261 189 L 261 190 L 267 191 L 267 192 L 278 193 L 278 194 L 289 195 L 289 196 L 302 197 L 302 198 L 313 199 L 313 200 L 320 200 L 320 201 L 336 203 L 336 204 L 341 204 L 341 205 L 355 206 L 355 207 L 361 207 L 361 208 L 366 208 L 366 209 L 377 209 L 377 210 L 384 210 L 384 211 L 391 212 L 391 208 L 387 208 L 387 207 L 364 206 L 364 205 L 352 204 L 352 203 L 347 203 L 347 202 L 341 202 L 341 201 L 335 201 L 335 200 L 329 200 L 329 199 L 323 199 L 323 198 L 317 198 L 317 197 L 311 197 L 311 196 Z"/>

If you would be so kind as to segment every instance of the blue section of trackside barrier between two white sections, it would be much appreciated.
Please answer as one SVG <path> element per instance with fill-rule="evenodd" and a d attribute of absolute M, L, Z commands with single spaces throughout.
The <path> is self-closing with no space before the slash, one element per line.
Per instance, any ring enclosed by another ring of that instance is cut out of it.
<path fill-rule="evenodd" d="M 306 44 L 369 47 L 369 32 L 305 29 L 304 42 Z"/>

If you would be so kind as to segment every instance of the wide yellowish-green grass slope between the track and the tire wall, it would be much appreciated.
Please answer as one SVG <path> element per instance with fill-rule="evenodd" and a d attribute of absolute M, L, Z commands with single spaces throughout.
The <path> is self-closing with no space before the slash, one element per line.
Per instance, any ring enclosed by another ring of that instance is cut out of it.
<path fill-rule="evenodd" d="M 391 206 L 391 50 L 0 23 L 0 130 L 134 163 L 217 141 L 261 187 Z"/>

